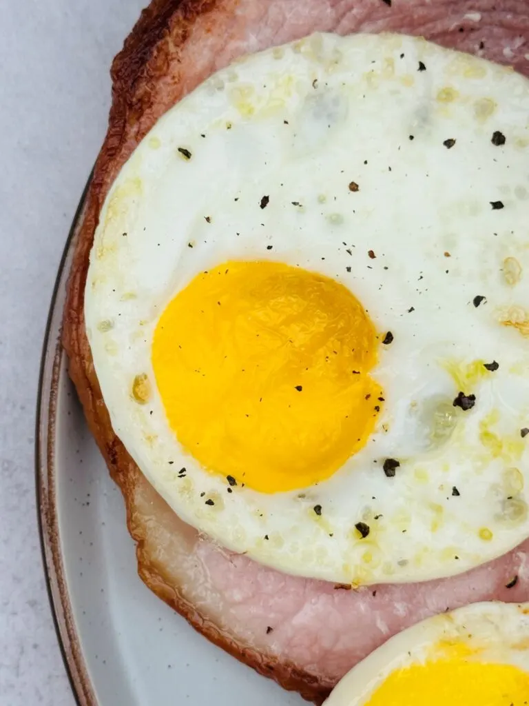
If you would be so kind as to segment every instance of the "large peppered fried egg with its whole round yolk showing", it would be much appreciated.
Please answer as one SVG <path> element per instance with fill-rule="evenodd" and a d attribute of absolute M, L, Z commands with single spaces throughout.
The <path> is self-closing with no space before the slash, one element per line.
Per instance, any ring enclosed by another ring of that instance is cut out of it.
<path fill-rule="evenodd" d="M 114 431 L 183 520 L 351 585 L 528 537 L 528 115 L 508 68 L 313 35 L 154 125 L 85 322 Z"/>

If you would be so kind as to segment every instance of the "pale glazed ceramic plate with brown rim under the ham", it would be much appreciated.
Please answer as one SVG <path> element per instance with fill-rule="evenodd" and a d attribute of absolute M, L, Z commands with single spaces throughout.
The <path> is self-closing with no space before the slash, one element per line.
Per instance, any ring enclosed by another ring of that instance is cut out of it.
<path fill-rule="evenodd" d="M 136 573 L 121 493 L 59 344 L 77 222 L 51 301 L 37 409 L 37 502 L 51 607 L 80 706 L 300 706 L 195 632 Z"/>

